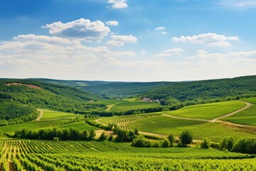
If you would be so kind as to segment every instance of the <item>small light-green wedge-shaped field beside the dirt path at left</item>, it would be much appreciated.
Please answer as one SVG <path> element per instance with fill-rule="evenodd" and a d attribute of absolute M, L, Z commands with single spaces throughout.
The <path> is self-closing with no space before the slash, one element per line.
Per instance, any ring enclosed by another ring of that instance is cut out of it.
<path fill-rule="evenodd" d="M 75 118 L 77 116 L 83 116 L 83 115 L 78 115 L 73 113 L 64 113 L 64 112 L 59 112 L 54 110 L 46 110 L 46 109 L 41 109 L 41 110 L 43 110 L 43 117 L 41 118 L 41 120 L 67 119 L 67 118 Z"/>

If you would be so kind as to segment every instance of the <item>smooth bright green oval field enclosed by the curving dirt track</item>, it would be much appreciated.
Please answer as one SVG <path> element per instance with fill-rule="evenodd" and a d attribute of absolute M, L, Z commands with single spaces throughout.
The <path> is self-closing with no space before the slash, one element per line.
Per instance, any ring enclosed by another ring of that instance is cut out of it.
<path fill-rule="evenodd" d="M 245 106 L 240 101 L 229 101 L 221 103 L 210 103 L 203 105 L 191 105 L 179 110 L 167 112 L 170 115 L 176 115 L 184 118 L 213 119 L 228 113 L 232 113 Z"/>

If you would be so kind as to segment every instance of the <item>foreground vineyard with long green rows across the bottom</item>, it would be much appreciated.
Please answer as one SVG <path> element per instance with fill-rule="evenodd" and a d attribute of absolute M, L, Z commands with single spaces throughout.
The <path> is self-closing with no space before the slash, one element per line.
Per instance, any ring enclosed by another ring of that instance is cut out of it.
<path fill-rule="evenodd" d="M 252 155 L 129 143 L 1 140 L 0 170 L 255 170 Z M 181 160 L 182 159 L 182 160 Z"/>

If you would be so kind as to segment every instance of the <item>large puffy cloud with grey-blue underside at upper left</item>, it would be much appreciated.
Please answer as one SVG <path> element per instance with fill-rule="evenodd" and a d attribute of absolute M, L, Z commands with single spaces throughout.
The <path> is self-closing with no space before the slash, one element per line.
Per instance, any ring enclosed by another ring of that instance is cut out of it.
<path fill-rule="evenodd" d="M 90 21 L 89 19 L 78 19 L 68 23 L 58 21 L 46 24 L 42 28 L 49 28 L 49 33 L 56 36 L 78 39 L 102 39 L 110 33 L 110 28 L 102 21 Z"/>

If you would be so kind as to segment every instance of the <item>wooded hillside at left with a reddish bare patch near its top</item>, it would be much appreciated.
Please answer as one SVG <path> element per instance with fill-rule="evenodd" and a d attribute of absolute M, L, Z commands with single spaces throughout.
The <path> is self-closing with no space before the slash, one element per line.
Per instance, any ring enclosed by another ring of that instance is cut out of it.
<path fill-rule="evenodd" d="M 26 85 L 38 86 L 39 88 L 31 88 L 31 86 Z M 105 110 L 106 108 L 105 105 L 89 102 L 89 100 L 101 99 L 93 93 L 70 86 L 44 83 L 42 81 L 1 80 L 0 94 L 9 95 L 10 99 L 24 105 L 72 113 L 88 110 Z"/>

